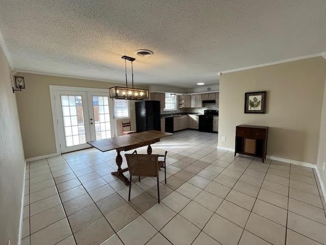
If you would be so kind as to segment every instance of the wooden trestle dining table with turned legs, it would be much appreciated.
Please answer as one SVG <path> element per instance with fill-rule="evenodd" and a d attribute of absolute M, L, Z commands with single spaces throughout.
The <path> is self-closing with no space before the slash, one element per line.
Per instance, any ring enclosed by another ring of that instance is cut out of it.
<path fill-rule="evenodd" d="M 172 135 L 171 133 L 160 132 L 156 130 L 148 130 L 140 133 L 132 133 L 123 136 L 117 136 L 107 139 L 97 139 L 87 142 L 92 145 L 94 148 L 100 150 L 101 152 L 107 152 L 116 150 L 117 157 L 116 163 L 118 170 L 112 172 L 111 174 L 121 179 L 125 185 L 129 185 L 129 180 L 124 176 L 123 173 L 128 171 L 128 168 L 121 168 L 122 165 L 122 156 L 121 151 L 130 151 L 133 149 L 140 148 L 142 146 L 147 146 L 147 154 L 152 154 L 151 144 L 158 142 L 160 138 Z"/>

